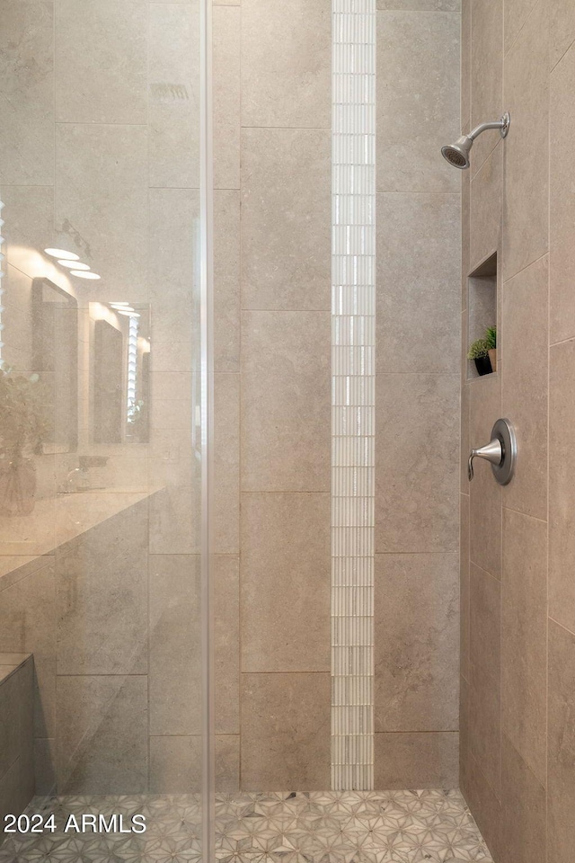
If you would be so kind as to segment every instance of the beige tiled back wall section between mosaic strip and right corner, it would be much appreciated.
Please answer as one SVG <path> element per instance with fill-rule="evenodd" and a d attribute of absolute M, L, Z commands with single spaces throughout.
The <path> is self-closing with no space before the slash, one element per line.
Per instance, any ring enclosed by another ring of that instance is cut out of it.
<path fill-rule="evenodd" d="M 459 4 L 377 8 L 376 787 L 456 787 Z"/>

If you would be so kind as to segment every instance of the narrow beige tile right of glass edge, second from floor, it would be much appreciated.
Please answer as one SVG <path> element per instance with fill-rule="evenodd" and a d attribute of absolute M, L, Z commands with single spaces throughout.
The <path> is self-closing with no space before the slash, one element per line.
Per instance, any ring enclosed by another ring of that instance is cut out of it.
<path fill-rule="evenodd" d="M 214 557 L 214 716 L 216 734 L 240 731 L 240 559 Z"/>

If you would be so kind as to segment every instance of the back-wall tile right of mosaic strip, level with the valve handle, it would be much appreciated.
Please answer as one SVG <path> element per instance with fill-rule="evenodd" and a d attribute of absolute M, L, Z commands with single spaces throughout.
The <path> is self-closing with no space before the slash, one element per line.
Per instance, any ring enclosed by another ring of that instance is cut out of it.
<path fill-rule="evenodd" d="M 376 427 L 376 551 L 456 551 L 459 375 L 379 375 Z"/>

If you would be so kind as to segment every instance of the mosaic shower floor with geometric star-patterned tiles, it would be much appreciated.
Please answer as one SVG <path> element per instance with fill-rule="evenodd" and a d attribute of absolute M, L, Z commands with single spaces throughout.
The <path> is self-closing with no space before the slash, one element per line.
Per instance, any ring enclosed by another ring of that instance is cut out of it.
<path fill-rule="evenodd" d="M 4 841 L 0 863 L 207 863 L 193 795 L 35 798 L 58 832 Z M 63 832 L 69 814 L 145 814 L 143 834 Z M 218 863 L 491 863 L 459 791 L 217 795 Z"/>

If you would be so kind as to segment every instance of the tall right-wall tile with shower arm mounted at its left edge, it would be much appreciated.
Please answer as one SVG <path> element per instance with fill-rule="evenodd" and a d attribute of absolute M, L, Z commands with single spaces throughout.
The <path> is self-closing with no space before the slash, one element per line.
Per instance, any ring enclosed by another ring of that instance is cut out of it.
<path fill-rule="evenodd" d="M 505 58 L 503 280 L 549 247 L 549 9 L 539 0 Z M 529 182 L 525 178 L 529 177 Z"/>

